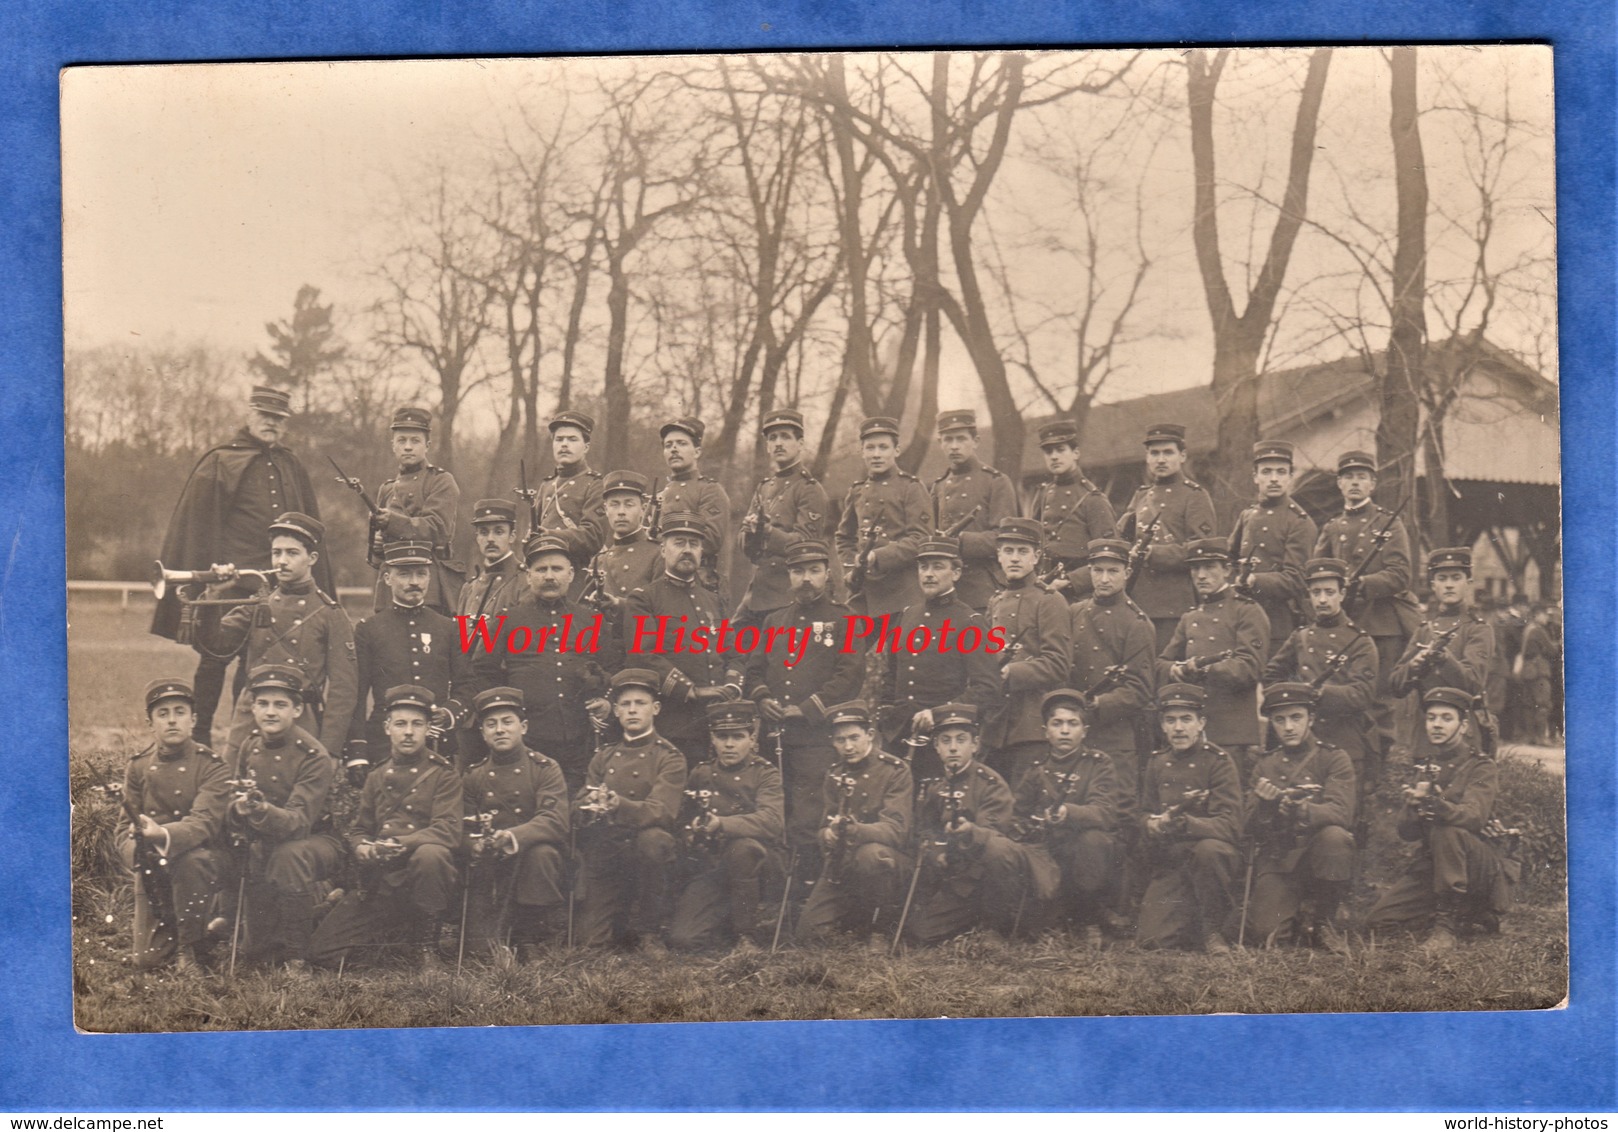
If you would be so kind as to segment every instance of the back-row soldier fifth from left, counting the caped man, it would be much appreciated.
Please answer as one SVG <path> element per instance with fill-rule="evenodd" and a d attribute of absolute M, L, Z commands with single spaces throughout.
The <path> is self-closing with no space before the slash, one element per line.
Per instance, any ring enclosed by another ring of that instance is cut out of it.
<path fill-rule="evenodd" d="M 741 519 L 741 551 L 752 563 L 752 584 L 736 608 L 736 624 L 759 624 L 791 602 L 786 551 L 804 539 L 825 539 L 832 505 L 803 463 L 804 414 L 775 409 L 759 425 L 772 471 L 759 482 Z"/>

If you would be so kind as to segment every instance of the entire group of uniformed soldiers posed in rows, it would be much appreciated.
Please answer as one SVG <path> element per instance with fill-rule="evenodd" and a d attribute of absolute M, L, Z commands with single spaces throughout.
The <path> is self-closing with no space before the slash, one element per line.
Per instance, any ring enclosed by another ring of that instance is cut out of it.
<path fill-rule="evenodd" d="M 803 416 L 775 409 L 773 469 L 733 532 L 701 420 L 662 425 L 659 484 L 594 471 L 595 422 L 568 411 L 550 477 L 472 506 L 466 576 L 460 490 L 427 463 L 430 414 L 408 406 L 398 475 L 374 500 L 343 477 L 379 571 L 351 627 L 280 443 L 288 416 L 285 393 L 254 390 L 165 543 L 178 592 L 154 631 L 201 663 L 147 691 L 154 744 L 123 786 L 141 964 L 217 965 L 227 940 L 231 965 L 306 972 L 377 946 L 437 964 L 1052 928 L 1082 946 L 1346 952 L 1366 804 L 1395 749 L 1413 779 L 1398 833 L 1417 851 L 1366 927 L 1425 922 L 1445 951 L 1510 906 L 1471 555 L 1427 556 L 1424 618 L 1369 453 L 1338 459 L 1343 511 L 1317 530 L 1290 493 L 1291 446 L 1259 443 L 1256 500 L 1220 535 L 1181 425 L 1144 437 L 1121 516 L 1084 477 L 1076 427 L 1045 425 L 1050 479 L 1023 514 L 969 411 L 940 414 L 948 467 L 930 487 L 898 466 L 898 422 L 872 417 L 866 475 L 833 513 Z M 736 556 L 752 566 L 739 598 Z M 1008 644 L 867 655 L 845 647 L 854 615 Z M 809 645 L 626 652 L 637 619 L 663 616 Z M 591 647 L 570 647 L 597 618 Z M 518 631 L 550 644 L 476 647 Z"/>

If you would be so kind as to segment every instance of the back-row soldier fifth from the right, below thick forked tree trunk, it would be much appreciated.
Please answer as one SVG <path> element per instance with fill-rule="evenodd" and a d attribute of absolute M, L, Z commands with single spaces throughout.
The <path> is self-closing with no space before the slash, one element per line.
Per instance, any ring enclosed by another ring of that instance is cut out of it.
<path fill-rule="evenodd" d="M 961 540 L 961 584 L 956 589 L 963 602 L 984 613 L 1005 581 L 995 532 L 1002 519 L 1019 513 L 1016 487 L 1005 472 L 977 459 L 977 414 L 971 409 L 938 414 L 938 446 L 948 467 L 932 482 L 934 527 Z"/>

